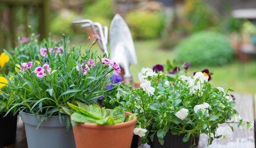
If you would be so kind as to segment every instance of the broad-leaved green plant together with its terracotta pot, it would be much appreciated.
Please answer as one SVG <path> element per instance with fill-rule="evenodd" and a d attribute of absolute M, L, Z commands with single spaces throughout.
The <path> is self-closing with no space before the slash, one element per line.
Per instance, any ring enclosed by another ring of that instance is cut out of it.
<path fill-rule="evenodd" d="M 75 145 L 82 147 L 130 148 L 137 118 L 115 107 L 113 110 L 80 102 L 62 107 L 70 115 Z"/>

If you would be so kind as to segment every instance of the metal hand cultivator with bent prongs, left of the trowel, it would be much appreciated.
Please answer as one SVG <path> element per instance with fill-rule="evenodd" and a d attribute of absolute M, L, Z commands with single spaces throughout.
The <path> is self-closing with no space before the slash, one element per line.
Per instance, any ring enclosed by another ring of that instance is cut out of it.
<path fill-rule="evenodd" d="M 107 49 L 107 41 L 106 39 L 108 39 L 108 28 L 107 27 L 102 27 L 100 23 L 98 22 L 92 22 L 92 20 L 75 20 L 74 22 L 72 22 L 73 24 L 78 24 L 78 23 L 85 23 L 83 24 L 81 27 L 92 27 L 93 33 L 95 35 L 98 35 L 97 31 L 99 31 L 99 36 L 101 37 L 102 40 L 98 40 L 98 44 L 100 46 L 101 51 L 103 51 L 106 55 L 108 55 L 108 49 Z M 96 28 L 97 27 L 97 28 Z M 103 28 L 105 28 L 105 32 L 103 33 Z"/>

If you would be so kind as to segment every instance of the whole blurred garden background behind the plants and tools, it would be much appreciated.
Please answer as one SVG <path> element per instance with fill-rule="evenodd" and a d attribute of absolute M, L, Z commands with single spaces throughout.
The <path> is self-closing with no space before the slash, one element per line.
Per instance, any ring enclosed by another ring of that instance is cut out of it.
<path fill-rule="evenodd" d="M 19 46 L 18 36 L 31 33 L 56 40 L 64 33 L 70 45 L 86 47 L 92 30 L 72 21 L 90 19 L 110 27 L 118 13 L 134 39 L 138 64 L 130 70 L 135 82 L 142 67 L 175 60 L 190 62 L 191 76 L 208 68 L 214 73 L 211 84 L 255 93 L 256 54 L 241 47 L 256 50 L 256 21 L 232 13 L 250 8 L 256 8 L 254 0 L 0 0 L 0 52 Z M 98 46 L 94 50 L 103 54 Z"/>

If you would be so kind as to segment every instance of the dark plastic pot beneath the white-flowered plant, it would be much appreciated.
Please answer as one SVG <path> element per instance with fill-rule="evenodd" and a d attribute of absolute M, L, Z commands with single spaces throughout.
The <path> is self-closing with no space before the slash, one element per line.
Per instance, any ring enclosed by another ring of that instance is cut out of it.
<path fill-rule="evenodd" d="M 164 137 L 164 144 L 163 146 L 158 142 L 158 138 L 156 134 L 154 135 L 153 142 L 150 142 L 151 148 L 189 148 L 192 146 L 192 136 L 190 136 L 189 141 L 183 142 L 182 138 L 184 138 L 185 134 L 181 134 L 180 136 L 172 134 L 170 131 L 166 133 L 166 136 Z"/>

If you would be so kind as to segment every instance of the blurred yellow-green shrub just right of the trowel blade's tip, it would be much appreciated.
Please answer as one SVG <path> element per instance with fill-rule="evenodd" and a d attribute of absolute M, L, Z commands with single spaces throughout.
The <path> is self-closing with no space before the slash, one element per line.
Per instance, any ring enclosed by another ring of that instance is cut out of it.
<path fill-rule="evenodd" d="M 127 14 L 126 22 L 135 38 L 156 38 L 163 30 L 164 15 L 160 12 L 132 11 Z"/>

